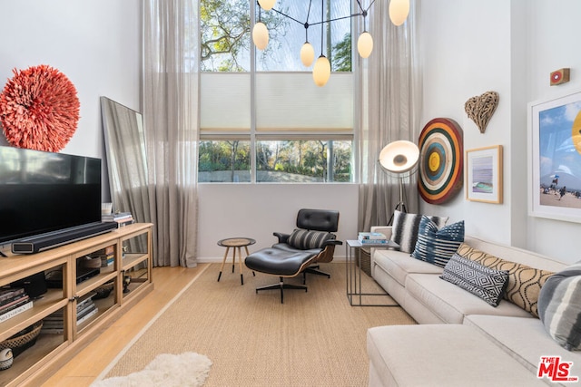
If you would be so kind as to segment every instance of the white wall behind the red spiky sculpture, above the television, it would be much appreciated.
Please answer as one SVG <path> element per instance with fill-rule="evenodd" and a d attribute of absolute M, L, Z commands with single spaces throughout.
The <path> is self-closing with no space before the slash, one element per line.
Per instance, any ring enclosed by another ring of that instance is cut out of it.
<path fill-rule="evenodd" d="M 73 82 L 80 120 L 63 153 L 103 158 L 99 97 L 141 108 L 140 0 L 18 0 L 0 4 L 0 87 L 13 69 L 47 64 Z M 0 135 L 0 145 L 7 142 Z M 108 179 L 103 162 L 103 195 Z M 106 200 L 103 198 L 103 201 Z"/>

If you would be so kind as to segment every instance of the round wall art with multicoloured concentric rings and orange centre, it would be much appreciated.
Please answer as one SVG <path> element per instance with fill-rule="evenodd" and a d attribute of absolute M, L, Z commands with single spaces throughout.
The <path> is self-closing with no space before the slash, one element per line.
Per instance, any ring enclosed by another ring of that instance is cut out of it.
<path fill-rule="evenodd" d="M 419 195 L 431 204 L 448 201 L 462 189 L 463 134 L 454 120 L 435 118 L 419 134 Z"/>

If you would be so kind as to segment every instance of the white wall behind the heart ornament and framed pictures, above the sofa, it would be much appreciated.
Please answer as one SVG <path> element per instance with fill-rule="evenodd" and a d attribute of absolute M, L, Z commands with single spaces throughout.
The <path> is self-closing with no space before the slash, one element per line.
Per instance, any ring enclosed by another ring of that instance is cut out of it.
<path fill-rule="evenodd" d="M 503 204 L 471 202 L 462 191 L 439 206 L 420 200 L 422 212 L 464 219 L 468 234 L 575 262 L 581 225 L 527 215 L 527 102 L 581 88 L 581 2 L 429 0 L 421 2 L 420 14 L 423 121 L 458 121 L 465 150 L 504 148 Z M 571 68 L 571 82 L 549 86 L 549 73 L 562 67 Z M 480 134 L 464 104 L 489 90 L 500 102 Z"/>

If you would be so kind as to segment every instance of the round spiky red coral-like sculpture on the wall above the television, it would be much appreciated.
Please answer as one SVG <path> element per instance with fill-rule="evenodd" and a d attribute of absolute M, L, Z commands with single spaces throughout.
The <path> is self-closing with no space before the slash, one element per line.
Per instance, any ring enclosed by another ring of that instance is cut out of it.
<path fill-rule="evenodd" d="M 0 93 L 0 123 L 6 140 L 19 148 L 62 150 L 79 121 L 74 84 L 45 64 L 13 73 Z"/>

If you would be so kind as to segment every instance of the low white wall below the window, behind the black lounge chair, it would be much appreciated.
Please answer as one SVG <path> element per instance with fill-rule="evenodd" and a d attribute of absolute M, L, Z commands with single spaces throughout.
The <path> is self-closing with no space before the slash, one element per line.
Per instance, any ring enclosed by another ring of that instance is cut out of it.
<path fill-rule="evenodd" d="M 198 256 L 222 260 L 225 237 L 251 237 L 250 252 L 277 242 L 275 231 L 290 233 L 300 208 L 340 211 L 338 239 L 357 238 L 358 186 L 355 184 L 200 184 Z M 337 247 L 337 258 L 345 247 Z"/>

